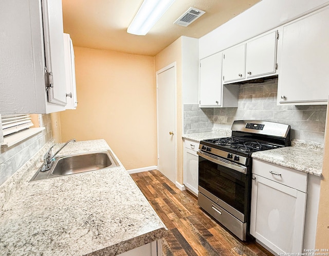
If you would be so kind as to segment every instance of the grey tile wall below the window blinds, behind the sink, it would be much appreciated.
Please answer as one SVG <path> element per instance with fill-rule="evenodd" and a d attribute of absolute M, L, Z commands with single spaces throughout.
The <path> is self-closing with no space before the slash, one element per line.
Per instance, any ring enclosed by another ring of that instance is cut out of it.
<path fill-rule="evenodd" d="M 43 145 L 52 138 L 50 114 L 39 115 L 40 127 L 46 127 L 10 148 L 0 150 L 0 186 L 26 163 Z"/>

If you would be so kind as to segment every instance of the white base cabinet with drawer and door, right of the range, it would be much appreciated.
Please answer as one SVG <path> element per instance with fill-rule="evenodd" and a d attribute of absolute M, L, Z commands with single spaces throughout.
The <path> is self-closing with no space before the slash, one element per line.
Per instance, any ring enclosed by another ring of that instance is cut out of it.
<path fill-rule="evenodd" d="M 303 249 L 307 174 L 252 160 L 250 234 L 275 253 Z"/>

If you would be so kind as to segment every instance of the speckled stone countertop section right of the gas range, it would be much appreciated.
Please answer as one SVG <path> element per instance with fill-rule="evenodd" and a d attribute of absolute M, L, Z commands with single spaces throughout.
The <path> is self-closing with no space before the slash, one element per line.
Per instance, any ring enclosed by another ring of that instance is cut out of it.
<path fill-rule="evenodd" d="M 315 176 L 321 176 L 323 143 L 292 140 L 291 147 L 258 151 L 252 153 L 252 157 Z"/>

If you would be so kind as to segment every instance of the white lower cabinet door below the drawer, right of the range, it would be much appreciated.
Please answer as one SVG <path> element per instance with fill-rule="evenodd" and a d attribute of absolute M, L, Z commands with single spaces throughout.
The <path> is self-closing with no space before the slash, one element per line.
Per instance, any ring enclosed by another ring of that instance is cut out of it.
<path fill-rule="evenodd" d="M 306 193 L 252 176 L 250 234 L 276 253 L 301 253 Z"/>

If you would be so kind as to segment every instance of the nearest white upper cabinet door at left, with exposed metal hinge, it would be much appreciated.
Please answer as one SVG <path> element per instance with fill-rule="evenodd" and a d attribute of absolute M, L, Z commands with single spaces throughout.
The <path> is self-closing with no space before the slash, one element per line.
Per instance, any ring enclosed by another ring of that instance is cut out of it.
<path fill-rule="evenodd" d="M 43 28 L 47 72 L 52 73 L 48 101 L 66 105 L 66 75 L 64 62 L 63 14 L 61 0 L 42 0 Z"/>

